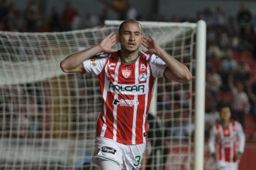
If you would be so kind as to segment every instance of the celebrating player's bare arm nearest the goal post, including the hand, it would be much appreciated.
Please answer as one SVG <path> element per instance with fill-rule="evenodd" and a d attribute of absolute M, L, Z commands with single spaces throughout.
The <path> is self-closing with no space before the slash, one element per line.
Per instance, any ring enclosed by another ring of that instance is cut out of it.
<path fill-rule="evenodd" d="M 170 56 L 163 48 L 157 44 L 152 36 L 149 36 L 150 39 L 144 36 L 142 45 L 148 50 L 143 50 L 146 54 L 155 54 L 167 64 L 168 68 L 165 72 L 165 77 L 177 82 L 185 83 L 192 79 L 192 75 L 189 72 L 189 69 L 178 62 L 175 58 Z"/>

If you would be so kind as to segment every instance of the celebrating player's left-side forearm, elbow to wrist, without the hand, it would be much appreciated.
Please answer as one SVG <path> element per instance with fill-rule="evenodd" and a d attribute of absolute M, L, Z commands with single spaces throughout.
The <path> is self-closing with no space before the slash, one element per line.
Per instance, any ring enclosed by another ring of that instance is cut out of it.
<path fill-rule="evenodd" d="M 95 45 L 92 48 L 88 48 L 75 54 L 71 54 L 63 61 L 61 61 L 61 69 L 66 73 L 81 72 L 81 63 L 89 59 L 90 57 L 101 53 L 102 51 L 103 50 L 100 45 Z"/>

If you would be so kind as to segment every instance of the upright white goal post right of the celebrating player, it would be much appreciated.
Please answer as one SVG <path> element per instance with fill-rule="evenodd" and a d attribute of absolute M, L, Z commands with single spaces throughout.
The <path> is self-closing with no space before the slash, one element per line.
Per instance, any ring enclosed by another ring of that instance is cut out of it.
<path fill-rule="evenodd" d="M 206 75 L 206 23 L 198 21 L 195 72 L 195 170 L 204 170 L 204 114 Z"/>

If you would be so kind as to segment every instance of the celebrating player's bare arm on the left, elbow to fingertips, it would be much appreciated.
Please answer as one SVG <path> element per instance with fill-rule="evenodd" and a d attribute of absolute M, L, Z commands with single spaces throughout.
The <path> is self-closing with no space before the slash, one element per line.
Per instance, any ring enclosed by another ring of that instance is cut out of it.
<path fill-rule="evenodd" d="M 95 56 L 101 52 L 112 53 L 117 51 L 116 49 L 112 49 L 112 47 L 118 42 L 116 34 L 113 34 L 114 33 L 109 34 L 98 45 L 69 55 L 67 58 L 61 61 L 60 66 L 62 71 L 66 73 L 82 72 L 83 70 L 81 67 L 81 63 L 84 60 L 87 60 L 90 57 Z"/>

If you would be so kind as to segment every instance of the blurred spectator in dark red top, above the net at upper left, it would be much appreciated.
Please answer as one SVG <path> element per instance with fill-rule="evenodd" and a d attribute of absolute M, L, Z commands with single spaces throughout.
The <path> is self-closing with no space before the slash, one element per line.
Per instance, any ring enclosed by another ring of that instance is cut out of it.
<path fill-rule="evenodd" d="M 71 31 L 73 18 L 76 16 L 76 9 L 70 1 L 66 2 L 65 8 L 62 13 L 62 30 Z"/>

